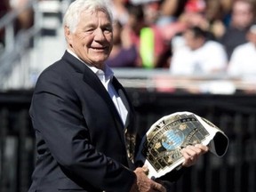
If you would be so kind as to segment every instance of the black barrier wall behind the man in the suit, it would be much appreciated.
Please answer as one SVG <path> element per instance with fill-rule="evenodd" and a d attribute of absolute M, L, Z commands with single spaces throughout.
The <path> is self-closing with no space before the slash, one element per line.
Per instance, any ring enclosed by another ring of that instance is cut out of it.
<path fill-rule="evenodd" d="M 173 192 L 256 191 L 256 97 L 191 95 L 129 89 L 140 132 L 162 116 L 190 111 L 204 116 L 229 137 L 219 158 L 204 155 L 173 185 Z M 0 191 L 27 192 L 35 162 L 34 132 L 28 116 L 32 92 L 0 94 Z"/>

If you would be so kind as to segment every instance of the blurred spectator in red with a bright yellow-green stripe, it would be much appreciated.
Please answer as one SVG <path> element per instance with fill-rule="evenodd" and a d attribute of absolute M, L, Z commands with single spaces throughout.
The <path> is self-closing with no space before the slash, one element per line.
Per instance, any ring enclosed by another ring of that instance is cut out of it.
<path fill-rule="evenodd" d="M 159 68 L 164 65 L 166 45 L 159 28 L 145 20 L 145 4 L 131 5 L 128 8 L 129 20 L 125 28 L 130 28 L 132 43 L 136 45 L 140 68 Z"/>

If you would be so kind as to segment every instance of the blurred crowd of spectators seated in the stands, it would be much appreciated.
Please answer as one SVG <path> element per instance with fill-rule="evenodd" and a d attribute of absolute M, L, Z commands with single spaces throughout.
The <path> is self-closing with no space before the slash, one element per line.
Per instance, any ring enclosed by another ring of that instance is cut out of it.
<path fill-rule="evenodd" d="M 26 1 L 1 0 L 0 18 Z M 112 68 L 256 74 L 256 0 L 108 1 L 115 21 Z M 29 14 L 17 28 L 31 25 Z"/>

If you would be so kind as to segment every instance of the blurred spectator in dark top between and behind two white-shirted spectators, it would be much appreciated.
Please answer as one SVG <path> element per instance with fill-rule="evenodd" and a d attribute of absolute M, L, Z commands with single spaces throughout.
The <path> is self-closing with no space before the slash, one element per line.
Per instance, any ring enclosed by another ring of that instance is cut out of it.
<path fill-rule="evenodd" d="M 231 23 L 220 38 L 228 53 L 228 60 L 237 45 L 247 42 L 246 33 L 254 20 L 253 4 L 249 0 L 237 0 L 232 5 Z"/>

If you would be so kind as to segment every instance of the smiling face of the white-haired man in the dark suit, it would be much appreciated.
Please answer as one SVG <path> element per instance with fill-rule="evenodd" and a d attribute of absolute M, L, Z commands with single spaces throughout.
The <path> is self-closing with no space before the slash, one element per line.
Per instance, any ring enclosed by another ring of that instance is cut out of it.
<path fill-rule="evenodd" d="M 76 31 L 65 28 L 68 48 L 79 59 L 96 68 L 103 68 L 113 44 L 112 23 L 105 12 L 82 12 Z"/>

